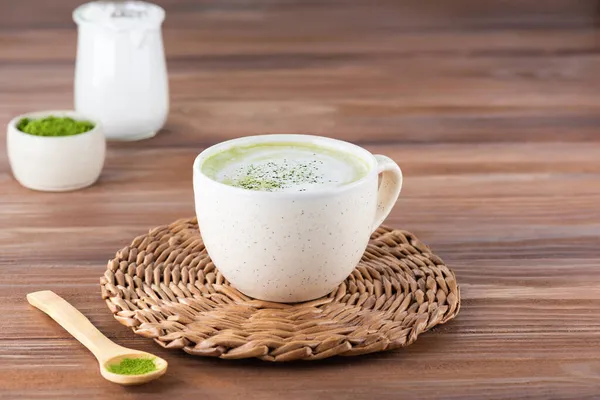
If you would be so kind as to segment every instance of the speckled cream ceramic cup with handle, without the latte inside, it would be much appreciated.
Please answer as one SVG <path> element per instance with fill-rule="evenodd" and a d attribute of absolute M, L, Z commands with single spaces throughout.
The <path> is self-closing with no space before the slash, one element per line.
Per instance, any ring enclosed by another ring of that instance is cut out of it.
<path fill-rule="evenodd" d="M 346 185 L 305 192 L 247 190 L 202 173 L 204 161 L 214 154 L 271 142 L 306 142 L 350 153 L 364 160 L 369 172 Z M 242 293 L 275 302 L 312 300 L 335 289 L 358 264 L 402 187 L 402 172 L 390 158 L 309 135 L 223 142 L 198 155 L 193 173 L 200 233 L 215 266 Z"/>

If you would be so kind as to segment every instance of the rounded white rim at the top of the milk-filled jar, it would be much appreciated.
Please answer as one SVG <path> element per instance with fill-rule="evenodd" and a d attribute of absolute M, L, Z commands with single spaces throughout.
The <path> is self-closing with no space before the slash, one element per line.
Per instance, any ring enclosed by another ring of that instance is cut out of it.
<path fill-rule="evenodd" d="M 91 23 L 115 30 L 158 28 L 165 10 L 145 1 L 93 1 L 73 11 L 77 24 Z"/>

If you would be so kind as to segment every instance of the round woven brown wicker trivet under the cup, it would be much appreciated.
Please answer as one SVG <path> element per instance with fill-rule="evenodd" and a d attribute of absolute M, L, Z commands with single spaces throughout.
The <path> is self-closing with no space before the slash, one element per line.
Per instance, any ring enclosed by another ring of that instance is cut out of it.
<path fill-rule="evenodd" d="M 151 230 L 101 278 L 123 325 L 170 349 L 221 358 L 318 360 L 408 346 L 456 316 L 454 273 L 413 234 L 381 227 L 360 264 L 328 296 L 302 304 L 253 300 L 211 262 L 196 219 Z"/>

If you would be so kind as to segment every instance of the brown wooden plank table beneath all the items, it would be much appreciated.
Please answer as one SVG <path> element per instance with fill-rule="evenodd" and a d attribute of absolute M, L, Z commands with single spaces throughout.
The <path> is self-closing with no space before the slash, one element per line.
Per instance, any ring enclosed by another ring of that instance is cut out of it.
<path fill-rule="evenodd" d="M 0 122 L 72 107 L 75 0 L 0 5 Z M 171 112 L 111 143 L 95 186 L 36 193 L 0 141 L 0 398 L 600 396 L 600 31 L 595 1 L 161 1 Z M 388 223 L 457 273 L 458 318 L 406 349 L 272 365 L 159 348 L 100 299 L 106 261 L 193 215 L 194 156 L 315 133 L 390 155 Z M 25 294 L 51 289 L 120 344 L 170 362 L 125 389 Z"/>

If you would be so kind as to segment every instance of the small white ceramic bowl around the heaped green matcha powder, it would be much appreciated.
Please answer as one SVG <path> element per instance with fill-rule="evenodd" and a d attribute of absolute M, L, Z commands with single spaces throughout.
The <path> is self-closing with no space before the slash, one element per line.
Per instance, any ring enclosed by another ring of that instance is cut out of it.
<path fill-rule="evenodd" d="M 36 136 L 17 129 L 23 118 L 54 115 L 86 120 L 91 131 L 73 136 Z M 19 115 L 8 124 L 8 160 L 13 175 L 26 188 L 51 192 L 81 189 L 100 176 L 106 140 L 100 123 L 74 111 L 41 111 Z"/>

